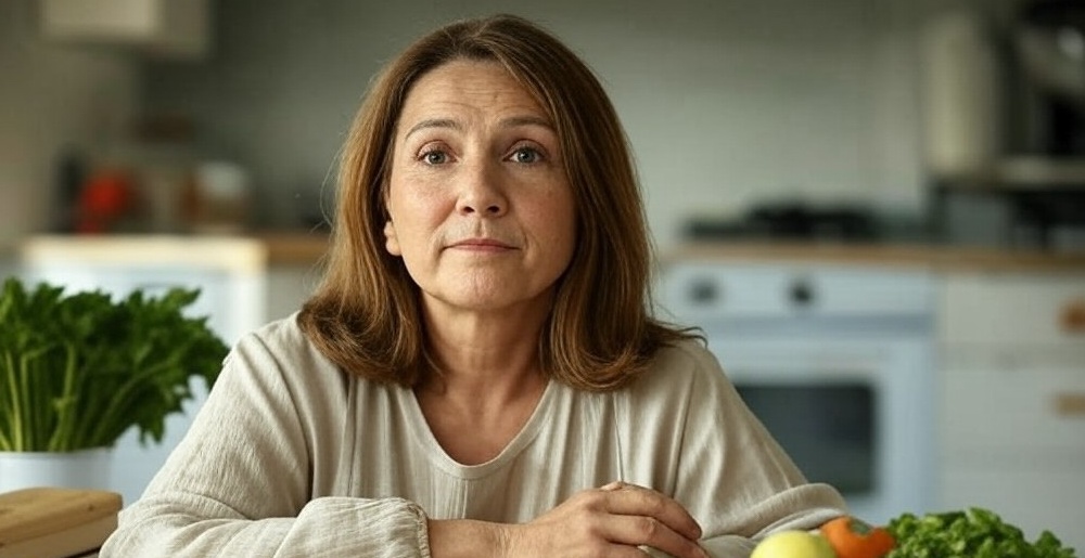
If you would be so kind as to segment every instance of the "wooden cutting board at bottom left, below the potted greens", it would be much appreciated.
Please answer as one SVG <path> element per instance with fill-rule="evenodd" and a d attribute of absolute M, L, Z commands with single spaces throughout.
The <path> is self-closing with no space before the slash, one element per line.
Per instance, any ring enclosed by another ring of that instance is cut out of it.
<path fill-rule="evenodd" d="M 117 528 L 120 494 L 25 489 L 0 494 L 0 558 L 63 558 L 97 550 Z"/>

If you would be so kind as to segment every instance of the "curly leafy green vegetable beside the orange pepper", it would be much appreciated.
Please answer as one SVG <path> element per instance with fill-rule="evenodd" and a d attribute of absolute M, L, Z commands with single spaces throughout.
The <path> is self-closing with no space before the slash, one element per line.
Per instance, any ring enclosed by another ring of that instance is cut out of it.
<path fill-rule="evenodd" d="M 888 558 L 1076 558 L 1073 548 L 1044 531 L 1034 543 L 993 511 L 972 507 L 916 516 L 903 514 L 886 530 L 896 538 Z"/>

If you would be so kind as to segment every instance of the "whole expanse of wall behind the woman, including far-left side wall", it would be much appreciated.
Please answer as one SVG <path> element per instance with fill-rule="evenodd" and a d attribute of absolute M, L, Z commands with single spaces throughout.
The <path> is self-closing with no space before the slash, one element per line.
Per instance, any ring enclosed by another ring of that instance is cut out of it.
<path fill-rule="evenodd" d="M 516 11 L 569 41 L 603 79 L 666 248 L 692 216 L 738 216 L 765 200 L 922 215 L 921 39 L 924 24 L 954 5 L 558 0 Z M 51 41 L 38 1 L 4 2 L 0 61 L 20 79 L 0 89 L 0 242 L 56 218 L 65 147 L 99 161 L 137 156 L 138 118 L 184 120 L 169 145 L 178 157 L 242 165 L 257 224 L 311 220 L 380 64 L 435 25 L 502 9 L 485 0 L 214 2 L 206 53 L 169 60 Z"/>

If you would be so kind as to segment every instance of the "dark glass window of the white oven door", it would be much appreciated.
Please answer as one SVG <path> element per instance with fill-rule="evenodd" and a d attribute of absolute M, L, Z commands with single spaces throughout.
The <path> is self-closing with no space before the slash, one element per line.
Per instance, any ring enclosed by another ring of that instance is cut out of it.
<path fill-rule="evenodd" d="M 864 384 L 737 384 L 807 480 L 845 497 L 875 489 L 875 393 Z"/>

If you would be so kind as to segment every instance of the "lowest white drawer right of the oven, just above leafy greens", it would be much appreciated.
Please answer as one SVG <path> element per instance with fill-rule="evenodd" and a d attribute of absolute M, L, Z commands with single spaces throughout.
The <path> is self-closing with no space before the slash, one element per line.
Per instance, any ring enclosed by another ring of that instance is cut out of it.
<path fill-rule="evenodd" d="M 1042 459 L 1042 457 L 1034 457 Z M 1064 546 L 1085 550 L 1085 470 L 947 468 L 942 471 L 942 509 L 979 506 L 1021 528 L 1030 541 L 1043 530 Z"/>

